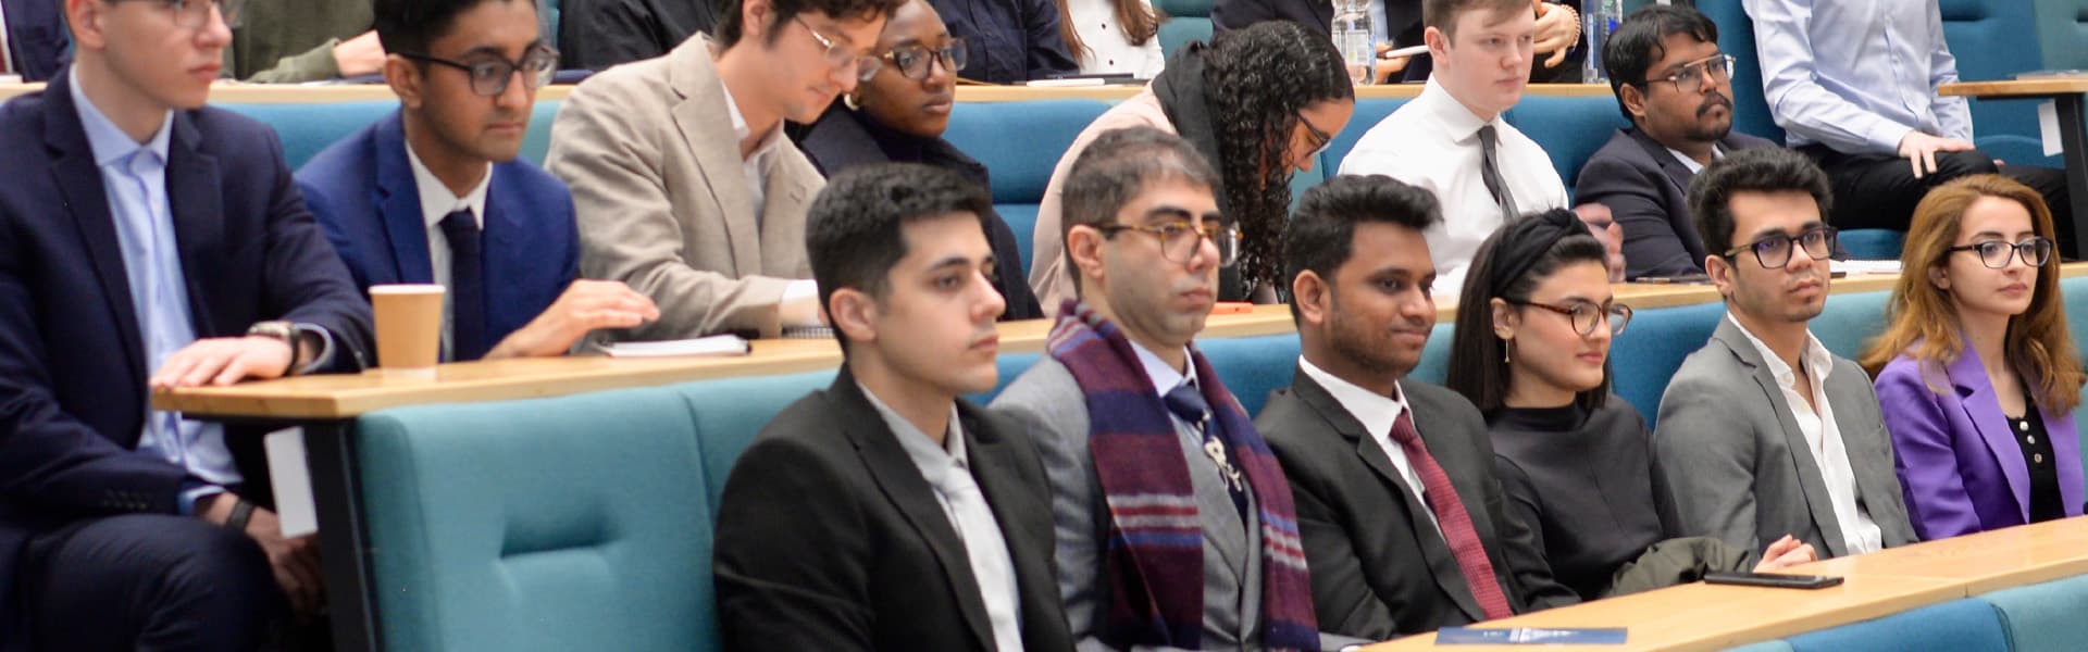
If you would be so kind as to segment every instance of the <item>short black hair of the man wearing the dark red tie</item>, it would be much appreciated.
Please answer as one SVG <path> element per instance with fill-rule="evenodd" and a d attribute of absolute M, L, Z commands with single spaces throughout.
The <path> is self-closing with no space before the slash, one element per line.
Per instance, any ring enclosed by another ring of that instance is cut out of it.
<path fill-rule="evenodd" d="M 1401 180 L 1372 173 L 1345 173 L 1305 190 L 1299 209 L 1284 230 L 1284 278 L 1313 272 L 1328 282 L 1355 255 L 1357 224 L 1397 224 L 1416 232 L 1443 222 L 1443 205 L 1434 192 L 1407 186 Z M 1284 282 L 1284 290 L 1290 284 Z M 1290 320 L 1297 322 L 1297 301 Z"/>

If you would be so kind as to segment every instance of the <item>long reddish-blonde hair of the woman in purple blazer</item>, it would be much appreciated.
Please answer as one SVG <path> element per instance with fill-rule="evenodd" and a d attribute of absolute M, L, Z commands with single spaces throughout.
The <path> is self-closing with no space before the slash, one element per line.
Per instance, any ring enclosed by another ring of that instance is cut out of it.
<path fill-rule="evenodd" d="M 1871 376 L 1877 376 L 1900 353 L 1938 366 L 1948 366 L 1965 353 L 1965 343 L 1959 339 L 1956 303 L 1944 288 L 1929 282 L 1929 270 L 1944 263 L 1948 249 L 1959 238 L 1965 209 L 1982 196 L 2023 205 L 2030 211 L 2032 230 L 2044 238 L 2053 236 L 2053 211 L 2044 207 L 2044 196 L 2002 176 L 1967 176 L 1929 190 L 1915 207 L 1915 219 L 1906 230 L 1900 282 L 1885 303 L 1885 332 L 1873 339 L 1862 355 L 1862 368 Z M 2073 339 L 2067 334 L 2067 311 L 2061 301 L 2055 255 L 2048 265 L 2038 270 L 2030 309 L 2009 318 L 2009 334 L 2002 341 L 2009 366 L 2032 382 L 2027 395 L 2048 412 L 2073 412 L 2080 403 L 2082 382 L 2088 380 L 2082 374 Z"/>

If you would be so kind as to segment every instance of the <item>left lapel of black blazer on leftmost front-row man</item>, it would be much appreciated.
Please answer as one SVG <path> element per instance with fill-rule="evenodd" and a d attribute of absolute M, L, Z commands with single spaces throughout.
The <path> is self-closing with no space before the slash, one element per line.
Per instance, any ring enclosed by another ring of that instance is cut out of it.
<path fill-rule="evenodd" d="M 971 556 L 965 552 L 965 541 L 956 535 L 950 516 L 935 502 L 935 489 L 921 476 L 921 468 L 900 447 L 898 433 L 885 426 L 885 418 L 877 414 L 877 408 L 871 405 L 856 385 L 856 376 L 846 368 L 835 376 L 833 387 L 827 389 L 827 401 L 841 416 L 848 441 L 862 456 L 862 466 L 869 468 L 871 479 L 877 481 L 885 499 L 906 516 L 906 525 L 927 541 L 929 552 L 942 562 L 944 585 L 965 612 L 965 625 L 971 629 L 973 639 L 981 650 L 992 650 L 992 621 L 986 616 L 986 602 L 979 600 L 979 581 L 971 573 Z M 977 476 L 975 472 L 973 479 Z"/>

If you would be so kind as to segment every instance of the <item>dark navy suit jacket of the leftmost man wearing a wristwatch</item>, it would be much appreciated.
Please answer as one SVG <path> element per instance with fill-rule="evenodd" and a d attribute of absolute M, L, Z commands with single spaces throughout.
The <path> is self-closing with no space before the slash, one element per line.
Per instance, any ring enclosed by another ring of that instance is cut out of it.
<path fill-rule="evenodd" d="M 146 349 L 115 217 L 61 71 L 0 107 L 0 648 L 21 631 L 23 543 L 67 522 L 175 514 L 188 474 L 140 456 Z M 198 339 L 263 320 L 332 332 L 338 368 L 370 349 L 370 305 L 305 211 L 276 132 L 219 109 L 177 111 L 167 203 Z M 257 437 L 228 437 L 248 485 Z"/>

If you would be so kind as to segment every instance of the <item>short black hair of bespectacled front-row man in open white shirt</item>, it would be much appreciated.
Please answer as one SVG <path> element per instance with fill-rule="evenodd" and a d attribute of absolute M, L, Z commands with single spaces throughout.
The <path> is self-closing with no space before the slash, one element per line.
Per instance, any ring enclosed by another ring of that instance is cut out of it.
<path fill-rule="evenodd" d="M 1689 215 L 1695 219 L 1704 251 L 1733 251 L 1735 192 L 1808 192 L 1821 205 L 1821 215 L 1833 211 L 1833 190 L 1827 173 L 1806 155 L 1781 146 L 1756 146 L 1725 155 L 1689 180 Z M 1702 263 L 1702 261 L 1698 261 Z"/>

